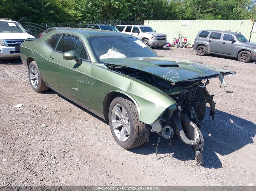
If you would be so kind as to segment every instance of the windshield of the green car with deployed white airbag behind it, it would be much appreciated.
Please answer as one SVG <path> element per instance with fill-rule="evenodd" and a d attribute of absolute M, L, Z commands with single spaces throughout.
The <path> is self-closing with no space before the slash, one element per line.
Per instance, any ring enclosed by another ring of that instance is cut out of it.
<path fill-rule="evenodd" d="M 145 43 L 133 37 L 89 37 L 88 41 L 97 60 L 158 56 Z"/>

